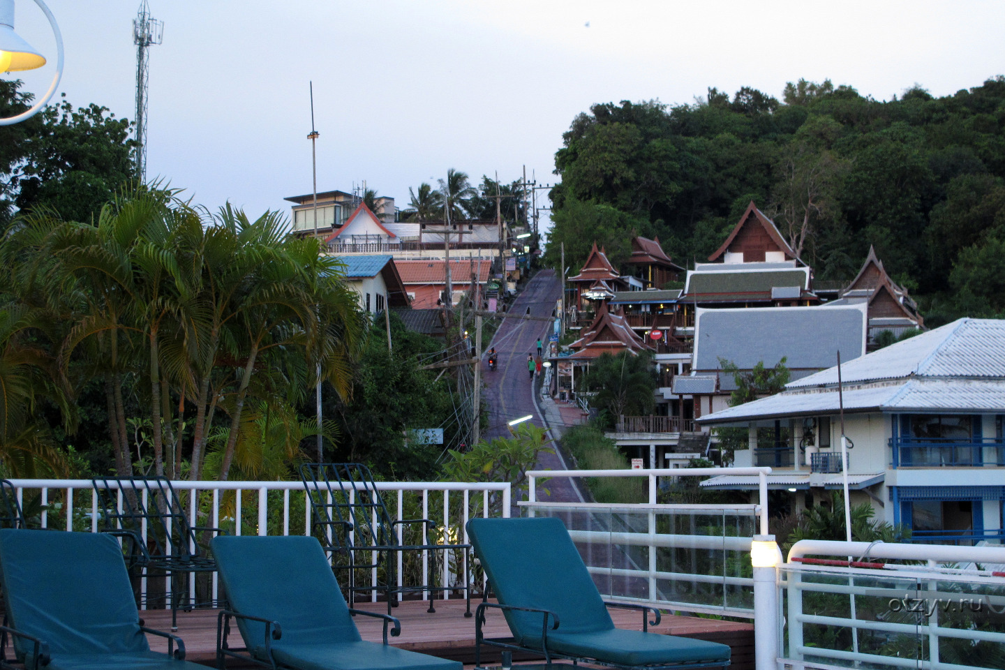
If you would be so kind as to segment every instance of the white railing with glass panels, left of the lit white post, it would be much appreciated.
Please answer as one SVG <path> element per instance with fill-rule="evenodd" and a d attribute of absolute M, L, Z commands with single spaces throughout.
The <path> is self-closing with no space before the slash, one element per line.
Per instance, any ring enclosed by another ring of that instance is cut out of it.
<path fill-rule="evenodd" d="M 768 528 L 771 468 L 645 470 L 534 470 L 529 516 L 561 516 L 598 588 L 613 600 L 686 612 L 755 616 L 751 540 Z M 661 504 L 660 477 L 757 475 L 759 504 Z M 549 477 L 644 477 L 647 502 L 550 502 L 537 499 L 538 480 Z M 595 547 L 603 547 L 597 550 Z"/>

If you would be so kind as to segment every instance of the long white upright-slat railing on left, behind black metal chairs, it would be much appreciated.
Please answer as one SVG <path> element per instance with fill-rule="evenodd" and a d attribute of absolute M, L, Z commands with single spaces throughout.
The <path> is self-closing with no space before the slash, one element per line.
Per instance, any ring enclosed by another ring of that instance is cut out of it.
<path fill-rule="evenodd" d="M 97 494 L 90 479 L 12 479 L 17 498 L 29 517 L 30 526 L 97 532 L 99 525 Z M 235 534 L 289 535 L 312 534 L 312 512 L 308 491 L 299 481 L 173 481 L 182 503 L 187 506 L 192 525 L 212 526 Z M 432 519 L 451 540 L 467 542 L 465 525 L 471 515 L 510 516 L 509 482 L 377 482 L 392 518 Z M 28 496 L 25 495 L 28 492 Z M 36 494 L 37 492 L 37 494 Z M 454 495 L 451 498 L 451 493 Z M 458 495 L 459 494 L 459 495 Z M 123 505 L 119 493 L 119 506 Z M 352 492 L 350 493 L 352 496 Z M 31 504 L 25 502 L 31 499 Z M 303 516 L 298 516 L 303 514 Z M 300 525 L 303 519 L 303 525 Z M 143 529 L 146 541 L 146 527 Z M 399 557 L 400 563 L 400 557 Z M 470 577 L 470 567 L 460 561 L 442 562 L 439 575 L 430 574 L 430 561 L 423 551 L 416 577 L 422 584 L 439 586 L 459 584 Z M 402 570 L 397 571 L 398 585 L 403 585 Z M 377 599 L 378 575 L 371 573 Z M 147 579 L 141 584 L 141 603 L 147 601 Z M 466 582 L 464 582 L 466 584 Z M 216 573 L 212 575 L 212 600 L 218 600 Z M 190 580 L 190 596 L 195 598 L 195 581 Z M 167 591 L 167 586 L 165 587 Z M 443 592 L 449 597 L 449 592 Z"/>

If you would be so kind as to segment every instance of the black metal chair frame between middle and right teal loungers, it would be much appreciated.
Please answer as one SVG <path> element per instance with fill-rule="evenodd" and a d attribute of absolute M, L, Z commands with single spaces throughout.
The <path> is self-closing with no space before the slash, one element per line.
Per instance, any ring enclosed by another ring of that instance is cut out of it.
<path fill-rule="evenodd" d="M 362 463 L 305 463 L 300 465 L 300 479 L 311 499 L 314 534 L 321 540 L 325 550 L 335 559 L 341 556 L 344 563 L 336 563 L 334 570 L 348 571 L 349 585 L 346 601 L 352 608 L 357 592 L 381 591 L 387 598 L 387 611 L 397 607 L 401 596 L 409 593 L 429 594 L 428 612 L 435 612 L 434 594 L 449 591 L 463 591 L 466 603 L 465 617 L 471 616 L 471 584 L 464 575 L 463 586 L 397 586 L 397 556 L 405 551 L 428 551 L 432 566 L 429 575 L 436 575 L 437 559 L 446 560 L 447 551 L 461 551 L 463 565 L 470 567 L 470 544 L 434 544 L 426 541 L 420 544 L 404 544 L 398 540 L 399 526 L 424 525 L 428 532 L 436 523 L 427 518 L 391 518 L 384 504 L 384 498 L 377 489 L 370 468 Z M 376 554 L 376 555 L 375 555 Z M 376 559 L 376 560 L 375 560 Z M 385 584 L 357 586 L 357 570 L 384 568 Z M 431 581 L 431 580 L 430 580 Z"/>

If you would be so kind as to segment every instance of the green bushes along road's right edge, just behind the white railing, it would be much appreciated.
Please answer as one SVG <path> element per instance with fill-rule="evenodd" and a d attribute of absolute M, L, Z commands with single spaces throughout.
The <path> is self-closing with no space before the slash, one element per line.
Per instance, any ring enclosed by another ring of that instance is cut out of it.
<path fill-rule="evenodd" d="M 628 459 L 614 440 L 590 424 L 572 426 L 562 436 L 562 448 L 576 461 L 580 470 L 627 470 Z M 645 480 L 641 477 L 588 477 L 586 486 L 595 502 L 635 503 L 646 500 Z"/>

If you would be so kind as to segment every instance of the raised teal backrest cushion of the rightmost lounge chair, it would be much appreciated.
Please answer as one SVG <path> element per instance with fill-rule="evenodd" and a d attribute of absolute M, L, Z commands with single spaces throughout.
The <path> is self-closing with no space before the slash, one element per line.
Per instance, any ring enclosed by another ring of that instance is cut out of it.
<path fill-rule="evenodd" d="M 560 519 L 472 518 L 467 534 L 499 603 L 555 612 L 566 633 L 614 628 Z M 506 617 L 515 638 L 541 644 L 542 615 L 508 612 Z"/>

